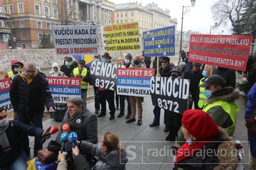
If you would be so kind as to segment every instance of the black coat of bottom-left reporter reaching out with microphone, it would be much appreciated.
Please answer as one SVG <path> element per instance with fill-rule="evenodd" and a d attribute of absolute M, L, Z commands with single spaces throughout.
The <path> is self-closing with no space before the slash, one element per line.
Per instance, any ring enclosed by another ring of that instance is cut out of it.
<path fill-rule="evenodd" d="M 0 148 L 0 168 L 9 167 L 14 160 L 22 154 L 22 134 L 42 137 L 43 129 L 25 125 L 18 121 L 9 121 L 9 127 L 5 130 L 11 149 L 3 152 Z"/>

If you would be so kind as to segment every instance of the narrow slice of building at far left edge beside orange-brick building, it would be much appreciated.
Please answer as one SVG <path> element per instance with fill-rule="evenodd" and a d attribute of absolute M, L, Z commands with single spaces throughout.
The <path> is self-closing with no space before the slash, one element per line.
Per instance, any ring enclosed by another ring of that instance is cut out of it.
<path fill-rule="evenodd" d="M 9 15 L 4 13 L 3 1 L 0 0 L 0 49 L 8 49 L 8 41 L 11 29 L 5 25 L 5 21 L 9 19 Z"/>

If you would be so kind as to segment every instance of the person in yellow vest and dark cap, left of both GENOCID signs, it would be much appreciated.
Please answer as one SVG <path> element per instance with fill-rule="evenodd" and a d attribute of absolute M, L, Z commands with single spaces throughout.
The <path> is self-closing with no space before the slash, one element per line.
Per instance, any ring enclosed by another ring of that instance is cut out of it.
<path fill-rule="evenodd" d="M 83 99 L 84 106 L 86 107 L 87 88 L 88 88 L 90 72 L 84 66 L 85 66 L 85 61 L 80 60 L 78 62 L 78 67 L 73 69 L 73 71 L 70 74 L 70 77 L 76 77 L 76 78 L 82 79 L 81 98 Z"/>

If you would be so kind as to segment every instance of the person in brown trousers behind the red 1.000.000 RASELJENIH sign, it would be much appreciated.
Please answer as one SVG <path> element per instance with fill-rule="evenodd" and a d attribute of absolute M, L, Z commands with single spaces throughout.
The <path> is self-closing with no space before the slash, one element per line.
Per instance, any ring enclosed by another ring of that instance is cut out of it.
<path fill-rule="evenodd" d="M 146 65 L 140 60 L 140 55 L 135 55 L 133 59 L 133 63 L 131 64 L 130 68 L 146 68 Z M 136 96 L 130 96 L 130 103 L 131 103 L 131 110 L 132 115 L 129 120 L 126 121 L 126 123 L 135 122 L 135 116 L 136 116 L 136 105 L 138 109 L 138 123 L 137 125 L 142 125 L 142 102 L 143 97 L 136 97 Z"/>

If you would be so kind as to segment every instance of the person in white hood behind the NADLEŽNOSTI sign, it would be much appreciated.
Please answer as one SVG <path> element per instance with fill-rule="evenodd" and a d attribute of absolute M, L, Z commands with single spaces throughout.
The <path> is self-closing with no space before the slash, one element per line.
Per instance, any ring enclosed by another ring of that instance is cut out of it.
<path fill-rule="evenodd" d="M 59 64 L 53 63 L 52 64 L 52 71 L 49 73 L 49 76 L 51 77 L 66 77 L 66 75 L 63 72 L 60 72 L 59 70 Z M 62 122 L 65 111 L 66 111 L 66 104 L 65 103 L 55 103 L 55 109 L 56 112 L 53 112 L 53 114 L 50 115 L 52 119 L 54 119 L 56 122 Z"/>

